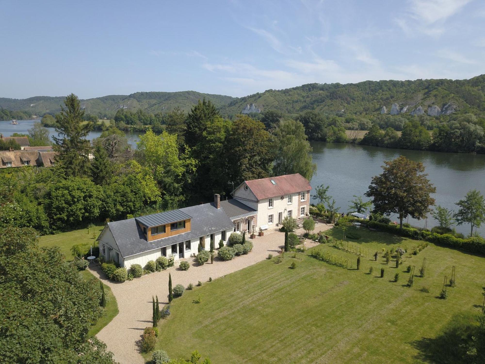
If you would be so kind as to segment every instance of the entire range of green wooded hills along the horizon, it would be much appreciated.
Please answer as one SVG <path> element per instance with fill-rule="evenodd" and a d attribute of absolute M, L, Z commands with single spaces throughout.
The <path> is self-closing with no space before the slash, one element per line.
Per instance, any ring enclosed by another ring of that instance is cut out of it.
<path fill-rule="evenodd" d="M 388 112 L 392 103 L 400 108 L 409 105 L 408 113 L 422 106 L 443 108 L 452 103 L 460 113 L 485 113 L 485 75 L 469 80 L 365 81 L 360 83 L 309 83 L 284 90 L 266 90 L 242 98 L 203 94 L 195 91 L 137 92 L 131 95 L 110 95 L 82 100 L 88 114 L 113 117 L 120 108 L 142 109 L 148 113 L 168 112 L 179 107 L 185 112 L 198 99 L 209 99 L 220 108 L 223 116 L 241 113 L 247 104 L 255 104 L 262 111 L 279 110 L 297 114 L 306 110 L 327 113 L 379 114 L 382 106 Z M 0 107 L 23 110 L 33 114 L 56 113 L 64 97 L 39 96 L 29 99 L 0 98 Z"/>

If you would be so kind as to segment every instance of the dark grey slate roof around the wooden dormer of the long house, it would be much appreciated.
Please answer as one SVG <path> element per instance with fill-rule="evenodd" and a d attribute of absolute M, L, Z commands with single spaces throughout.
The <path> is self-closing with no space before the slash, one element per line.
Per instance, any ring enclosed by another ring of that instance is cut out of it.
<path fill-rule="evenodd" d="M 123 258 L 180 243 L 189 239 L 198 238 L 200 236 L 220 232 L 222 230 L 232 229 L 234 226 L 224 210 L 222 208 L 217 209 L 213 202 L 184 207 L 178 211 L 192 216 L 191 231 L 150 242 L 146 241 L 143 231 L 136 222 L 136 219 L 139 217 L 109 222 L 108 227 L 113 234 L 114 240 L 116 241 Z"/>

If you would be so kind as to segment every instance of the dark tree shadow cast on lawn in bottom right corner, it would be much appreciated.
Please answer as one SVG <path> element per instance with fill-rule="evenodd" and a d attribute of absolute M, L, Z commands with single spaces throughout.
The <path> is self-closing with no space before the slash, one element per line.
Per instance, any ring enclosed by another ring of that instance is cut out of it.
<path fill-rule="evenodd" d="M 419 351 L 415 358 L 427 363 L 464 363 L 466 344 L 477 331 L 474 320 L 469 313 L 455 314 L 436 338 L 412 341 L 411 346 Z"/>

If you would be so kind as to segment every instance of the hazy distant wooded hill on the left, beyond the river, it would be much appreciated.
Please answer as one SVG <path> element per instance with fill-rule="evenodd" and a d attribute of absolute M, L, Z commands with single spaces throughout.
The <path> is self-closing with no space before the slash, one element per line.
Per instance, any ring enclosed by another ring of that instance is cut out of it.
<path fill-rule="evenodd" d="M 116 111 L 125 108 L 129 110 L 142 109 L 148 113 L 171 111 L 179 107 L 185 112 L 206 98 L 218 108 L 226 106 L 231 96 L 203 94 L 195 91 L 180 92 L 136 92 L 131 95 L 109 95 L 94 99 L 81 100 L 81 106 L 87 114 L 113 117 Z M 65 97 L 36 96 L 28 99 L 0 98 L 0 107 L 7 110 L 23 110 L 42 116 L 46 113 L 55 114 L 61 110 Z"/>

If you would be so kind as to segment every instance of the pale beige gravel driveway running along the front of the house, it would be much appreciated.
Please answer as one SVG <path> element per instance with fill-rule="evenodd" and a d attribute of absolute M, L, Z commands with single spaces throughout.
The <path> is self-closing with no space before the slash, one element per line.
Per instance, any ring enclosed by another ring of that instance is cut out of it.
<path fill-rule="evenodd" d="M 315 232 L 331 227 L 332 225 L 317 222 Z M 302 232 L 301 229 L 296 231 L 297 234 Z M 266 231 L 264 236 L 258 236 L 251 241 L 254 248 L 249 254 L 235 257 L 229 262 L 222 262 L 216 258 L 214 264 L 206 263 L 199 266 L 194 262 L 194 258 L 189 258 L 187 260 L 191 263 L 191 267 L 187 271 L 178 269 L 178 263 L 176 263 L 175 267 L 162 272 L 155 272 L 123 283 L 106 280 L 99 265 L 90 266 L 91 272 L 111 287 L 119 309 L 119 314 L 98 332 L 97 338 L 106 343 L 108 350 L 113 351 L 116 362 L 145 363 L 135 342 L 141 338 L 146 326 L 152 324 L 152 296 L 158 295 L 161 305 L 168 303 L 168 273 L 172 275 L 173 286 L 181 283 L 184 287 L 189 283 L 195 285 L 197 281 L 206 282 L 209 277 L 216 279 L 225 276 L 266 259 L 268 254 L 278 254 L 284 245 L 284 233 L 279 232 L 277 228 L 272 228 Z"/>

